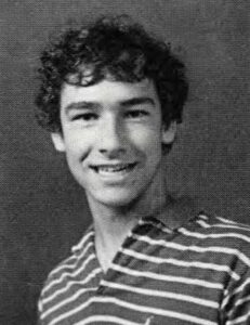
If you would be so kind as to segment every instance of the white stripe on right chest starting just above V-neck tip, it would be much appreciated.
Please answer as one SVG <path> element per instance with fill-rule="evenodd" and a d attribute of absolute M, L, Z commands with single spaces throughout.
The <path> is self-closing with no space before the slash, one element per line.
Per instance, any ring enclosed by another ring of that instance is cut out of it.
<path fill-rule="evenodd" d="M 190 277 L 184 277 L 184 276 L 172 276 L 172 275 L 163 275 L 163 274 L 157 274 L 148 271 L 135 271 L 128 268 L 123 268 L 117 264 L 111 264 L 110 269 L 126 273 L 132 276 L 143 276 L 147 278 L 154 278 L 158 281 L 166 281 L 166 282 L 176 282 L 182 283 L 185 285 L 195 285 L 195 286 L 201 286 L 206 288 L 211 289 L 223 289 L 223 285 L 221 283 L 212 283 L 203 280 L 197 280 L 197 278 L 190 278 Z"/>

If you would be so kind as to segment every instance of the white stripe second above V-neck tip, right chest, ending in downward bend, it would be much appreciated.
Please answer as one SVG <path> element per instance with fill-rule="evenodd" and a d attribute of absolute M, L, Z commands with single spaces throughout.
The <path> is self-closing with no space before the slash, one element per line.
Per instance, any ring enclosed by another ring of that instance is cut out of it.
<path fill-rule="evenodd" d="M 214 270 L 214 271 L 219 271 L 219 272 L 226 272 L 236 281 L 238 281 L 240 278 L 240 276 L 236 272 L 231 270 L 231 268 L 227 265 L 219 265 L 219 264 L 214 264 L 214 263 L 205 263 L 205 262 L 199 262 L 199 261 L 186 262 L 186 261 L 176 260 L 176 259 L 172 259 L 172 258 L 169 258 L 169 259 L 157 258 L 154 256 L 144 255 L 144 253 L 131 250 L 131 249 L 127 249 L 127 248 L 122 248 L 121 251 L 124 255 L 131 256 L 133 258 L 153 262 L 153 263 L 157 263 L 157 264 L 168 263 L 168 264 L 173 264 L 173 265 L 179 265 L 179 266 L 184 266 L 184 268 Z"/>

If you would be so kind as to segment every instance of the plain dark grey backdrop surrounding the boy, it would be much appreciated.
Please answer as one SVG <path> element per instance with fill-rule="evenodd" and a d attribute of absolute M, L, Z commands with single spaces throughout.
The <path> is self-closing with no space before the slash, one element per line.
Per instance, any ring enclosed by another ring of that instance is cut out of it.
<path fill-rule="evenodd" d="M 250 223 L 249 1 L 1 0 L 0 324 L 35 324 L 48 272 L 90 214 L 64 156 L 35 121 L 39 52 L 68 20 L 129 13 L 172 43 L 190 94 L 167 158 L 169 187 Z"/>

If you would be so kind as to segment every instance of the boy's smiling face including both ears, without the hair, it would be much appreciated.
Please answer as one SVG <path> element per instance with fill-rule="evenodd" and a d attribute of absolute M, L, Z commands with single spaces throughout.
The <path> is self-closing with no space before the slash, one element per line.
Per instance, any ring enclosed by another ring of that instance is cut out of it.
<path fill-rule="evenodd" d="M 161 122 L 154 83 L 103 80 L 78 87 L 65 83 L 61 94 L 62 134 L 52 133 L 90 203 L 126 206 L 157 179 L 162 143 L 174 128 Z"/>

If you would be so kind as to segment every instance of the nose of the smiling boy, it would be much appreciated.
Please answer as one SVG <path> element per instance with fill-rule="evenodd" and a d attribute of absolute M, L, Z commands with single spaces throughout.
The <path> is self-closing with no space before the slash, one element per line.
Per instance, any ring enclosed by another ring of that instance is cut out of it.
<path fill-rule="evenodd" d="M 119 118 L 108 117 L 98 132 L 98 152 L 108 158 L 117 158 L 126 153 L 128 142 L 126 141 L 126 132 Z"/>

